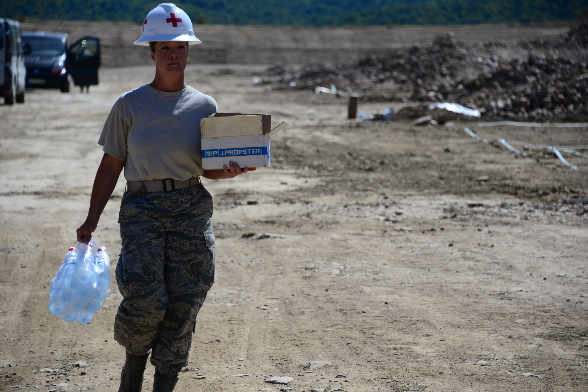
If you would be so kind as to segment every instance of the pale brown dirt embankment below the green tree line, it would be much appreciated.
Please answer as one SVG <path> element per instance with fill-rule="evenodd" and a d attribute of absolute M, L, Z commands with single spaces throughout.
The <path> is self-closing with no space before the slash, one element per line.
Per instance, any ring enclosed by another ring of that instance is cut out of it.
<path fill-rule="evenodd" d="M 84 35 L 100 36 L 106 67 L 148 65 L 145 53 L 132 42 L 141 35 L 139 23 L 38 21 L 23 22 L 22 31 L 58 31 L 72 40 Z M 457 38 L 473 43 L 486 40 L 507 42 L 522 38 L 549 38 L 569 26 L 477 25 L 477 26 L 398 26 L 394 28 L 294 28 L 277 26 L 194 25 L 202 45 L 193 48 L 191 61 L 205 64 L 306 64 L 343 62 L 385 55 L 390 49 L 426 45 L 439 33 L 454 32 Z"/>

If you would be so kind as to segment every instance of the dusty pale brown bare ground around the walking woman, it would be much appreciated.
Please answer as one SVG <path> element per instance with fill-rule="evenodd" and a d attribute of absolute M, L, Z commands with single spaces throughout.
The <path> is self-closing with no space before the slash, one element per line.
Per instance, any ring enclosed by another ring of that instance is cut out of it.
<path fill-rule="evenodd" d="M 272 141 L 272 168 L 205 183 L 216 283 L 177 391 L 284 387 L 270 375 L 293 377 L 293 391 L 588 390 L 588 206 L 562 204 L 587 197 L 588 177 L 461 131 L 577 145 L 585 128 L 347 120 L 345 99 L 222 68 L 191 66 L 187 82 L 222 110 L 292 125 Z M 31 90 L 0 106 L 0 390 L 118 388 L 116 285 L 89 325 L 49 315 L 48 289 L 85 218 L 103 121 L 152 72 L 102 69 L 90 93 Z M 112 270 L 123 185 L 95 232 Z M 330 365 L 309 370 L 316 360 Z M 152 377 L 149 366 L 144 390 Z"/>

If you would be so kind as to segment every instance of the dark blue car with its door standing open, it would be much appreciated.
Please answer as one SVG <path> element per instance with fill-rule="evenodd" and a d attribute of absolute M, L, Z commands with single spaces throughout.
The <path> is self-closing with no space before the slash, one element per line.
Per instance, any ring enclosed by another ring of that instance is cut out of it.
<path fill-rule="evenodd" d="M 66 33 L 25 32 L 26 87 L 58 88 L 98 85 L 100 40 L 86 36 L 69 46 Z"/>

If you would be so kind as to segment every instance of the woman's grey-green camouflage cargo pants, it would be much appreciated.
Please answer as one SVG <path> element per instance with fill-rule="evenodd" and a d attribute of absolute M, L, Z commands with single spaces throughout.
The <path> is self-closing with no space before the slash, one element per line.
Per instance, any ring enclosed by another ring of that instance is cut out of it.
<path fill-rule="evenodd" d="M 123 194 L 114 339 L 132 355 L 152 349 L 159 373 L 188 364 L 196 315 L 214 282 L 212 209 L 202 184 Z"/>

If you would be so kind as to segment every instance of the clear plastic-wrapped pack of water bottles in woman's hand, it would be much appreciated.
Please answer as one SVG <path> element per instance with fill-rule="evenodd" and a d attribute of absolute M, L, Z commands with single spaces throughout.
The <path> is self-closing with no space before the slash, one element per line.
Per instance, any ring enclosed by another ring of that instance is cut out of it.
<path fill-rule="evenodd" d="M 111 284 L 110 258 L 106 248 L 91 239 L 69 248 L 51 280 L 49 313 L 66 322 L 87 324 L 106 299 Z"/>

